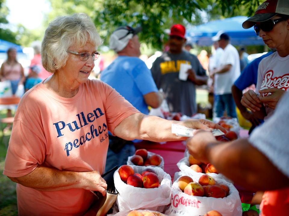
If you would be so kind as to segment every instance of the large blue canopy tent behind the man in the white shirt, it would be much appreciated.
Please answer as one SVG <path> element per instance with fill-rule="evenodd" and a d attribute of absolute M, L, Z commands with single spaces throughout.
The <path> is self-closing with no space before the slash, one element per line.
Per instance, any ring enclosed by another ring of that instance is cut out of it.
<path fill-rule="evenodd" d="M 190 43 L 210 46 L 213 43 L 212 37 L 222 30 L 231 37 L 233 45 L 264 45 L 262 38 L 256 35 L 253 28 L 243 29 L 242 23 L 247 19 L 248 17 L 238 16 L 194 26 L 187 29 L 186 38 Z"/>

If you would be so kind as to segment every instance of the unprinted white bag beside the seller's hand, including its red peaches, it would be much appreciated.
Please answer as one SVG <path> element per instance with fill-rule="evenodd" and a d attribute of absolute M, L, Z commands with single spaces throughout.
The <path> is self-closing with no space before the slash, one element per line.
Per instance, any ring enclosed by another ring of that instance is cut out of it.
<path fill-rule="evenodd" d="M 164 211 L 170 204 L 172 179 L 160 167 L 123 165 L 113 174 L 119 192 L 119 211 L 147 209 Z"/>

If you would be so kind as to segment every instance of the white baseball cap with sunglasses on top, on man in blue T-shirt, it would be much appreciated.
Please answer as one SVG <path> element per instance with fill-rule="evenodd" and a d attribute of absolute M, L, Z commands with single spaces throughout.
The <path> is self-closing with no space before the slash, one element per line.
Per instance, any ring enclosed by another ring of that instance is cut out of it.
<path fill-rule="evenodd" d="M 109 47 L 116 52 L 123 50 L 134 35 L 141 31 L 141 26 L 133 29 L 130 26 L 121 26 L 109 38 Z"/>

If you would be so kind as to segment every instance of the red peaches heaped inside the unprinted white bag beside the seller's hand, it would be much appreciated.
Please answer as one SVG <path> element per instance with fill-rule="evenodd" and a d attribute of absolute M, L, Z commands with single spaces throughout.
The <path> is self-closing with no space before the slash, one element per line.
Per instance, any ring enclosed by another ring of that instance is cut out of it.
<path fill-rule="evenodd" d="M 152 169 L 145 169 L 141 174 L 135 173 L 129 165 L 123 165 L 118 170 L 120 179 L 133 187 L 155 188 L 160 186 L 160 180 Z"/>

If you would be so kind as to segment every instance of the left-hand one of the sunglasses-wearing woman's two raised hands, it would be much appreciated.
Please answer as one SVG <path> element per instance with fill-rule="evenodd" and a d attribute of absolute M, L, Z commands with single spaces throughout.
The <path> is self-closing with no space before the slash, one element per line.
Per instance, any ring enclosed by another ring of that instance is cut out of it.
<path fill-rule="evenodd" d="M 243 94 L 241 104 L 253 112 L 260 111 L 260 108 L 262 107 L 262 102 L 258 95 L 251 89 Z"/>

